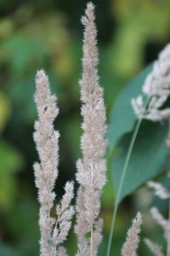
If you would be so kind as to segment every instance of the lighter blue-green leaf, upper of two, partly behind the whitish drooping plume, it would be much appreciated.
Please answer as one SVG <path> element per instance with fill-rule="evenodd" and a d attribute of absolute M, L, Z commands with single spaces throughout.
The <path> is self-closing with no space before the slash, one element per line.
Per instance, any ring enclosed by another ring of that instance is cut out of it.
<path fill-rule="evenodd" d="M 116 146 L 118 139 L 123 134 L 132 131 L 136 116 L 133 113 L 131 100 L 141 94 L 144 79 L 150 73 L 152 65 L 146 67 L 139 75 L 127 84 L 122 93 L 117 97 L 114 108 L 111 111 L 111 121 L 108 131 L 110 151 Z"/>

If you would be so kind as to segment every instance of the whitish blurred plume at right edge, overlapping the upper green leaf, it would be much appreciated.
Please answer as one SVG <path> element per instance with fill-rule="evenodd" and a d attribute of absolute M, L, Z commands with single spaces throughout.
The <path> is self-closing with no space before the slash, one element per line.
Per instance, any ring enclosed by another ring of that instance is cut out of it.
<path fill-rule="evenodd" d="M 144 109 L 143 96 L 132 99 L 134 113 L 139 119 L 161 121 L 170 119 L 170 108 L 164 108 L 164 103 L 170 94 L 170 44 L 161 51 L 155 61 L 152 71 L 144 81 L 143 92 L 150 98 Z M 163 108 L 162 108 L 163 107 Z"/>

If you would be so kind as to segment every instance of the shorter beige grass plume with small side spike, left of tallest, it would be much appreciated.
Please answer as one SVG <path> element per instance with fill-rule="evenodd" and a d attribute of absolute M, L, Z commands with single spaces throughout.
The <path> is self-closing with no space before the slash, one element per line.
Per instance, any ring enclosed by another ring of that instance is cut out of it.
<path fill-rule="evenodd" d="M 71 207 L 73 183 L 65 184 L 65 195 L 59 205 L 55 206 L 57 218 L 52 217 L 51 210 L 55 199 L 54 184 L 58 177 L 59 163 L 59 132 L 54 131 L 53 123 L 59 108 L 56 105 L 56 97 L 51 94 L 48 77 L 43 70 L 37 72 L 35 102 L 38 119 L 35 122 L 34 141 L 40 162 L 34 164 L 34 172 L 40 202 L 40 255 L 66 255 L 65 248 L 59 248 L 59 244 L 65 241 L 71 227 L 71 218 L 74 213 Z M 59 253 L 58 249 L 62 253 Z"/>

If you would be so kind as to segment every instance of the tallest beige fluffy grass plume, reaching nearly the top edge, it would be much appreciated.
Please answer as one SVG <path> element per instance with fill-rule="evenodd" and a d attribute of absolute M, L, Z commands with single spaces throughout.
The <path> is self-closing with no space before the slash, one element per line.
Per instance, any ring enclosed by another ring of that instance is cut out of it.
<path fill-rule="evenodd" d="M 77 182 L 80 184 L 77 195 L 78 239 L 77 256 L 95 256 L 101 241 L 102 220 L 99 218 L 100 196 L 105 184 L 105 104 L 103 89 L 99 86 L 97 65 L 99 62 L 94 4 L 88 3 L 84 26 L 82 57 L 82 160 L 77 160 Z M 90 233 L 90 237 L 87 235 Z"/>

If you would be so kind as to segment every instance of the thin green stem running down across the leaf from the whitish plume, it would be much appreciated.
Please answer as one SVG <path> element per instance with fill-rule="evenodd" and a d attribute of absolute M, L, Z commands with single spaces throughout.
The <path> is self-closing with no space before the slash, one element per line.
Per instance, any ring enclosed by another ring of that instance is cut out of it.
<path fill-rule="evenodd" d="M 144 103 L 144 110 L 146 109 L 149 102 L 150 102 L 150 97 Z M 142 119 L 138 119 L 138 121 L 135 125 L 135 129 L 133 131 L 133 136 L 131 138 L 131 142 L 130 142 L 128 150 L 127 150 L 127 156 L 126 156 L 126 159 L 125 159 L 125 162 L 124 162 L 124 166 L 122 168 L 122 177 L 121 177 L 121 182 L 120 182 L 119 189 L 118 189 L 118 192 L 117 192 L 116 203 L 115 203 L 115 207 L 114 207 L 114 211 L 113 211 L 113 215 L 112 215 L 111 231 L 110 231 L 106 256 L 110 256 L 110 253 L 111 253 L 111 241 L 112 241 L 112 238 L 113 238 L 113 231 L 114 231 L 114 228 L 115 228 L 116 213 L 117 213 L 117 209 L 118 209 L 118 206 L 119 206 L 119 201 L 120 201 L 121 193 L 122 193 L 122 185 L 123 185 L 123 182 L 124 182 L 124 178 L 126 176 L 128 163 L 129 163 L 132 151 L 133 151 L 133 145 L 134 145 L 135 139 L 137 137 L 137 134 L 138 134 L 138 131 L 139 131 L 139 126 L 140 126 L 141 122 L 142 122 Z M 113 256 L 113 253 L 111 255 Z M 168 255 L 168 256 L 170 256 L 170 255 Z"/>

